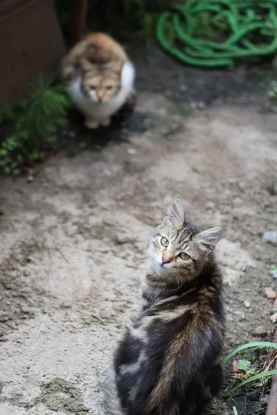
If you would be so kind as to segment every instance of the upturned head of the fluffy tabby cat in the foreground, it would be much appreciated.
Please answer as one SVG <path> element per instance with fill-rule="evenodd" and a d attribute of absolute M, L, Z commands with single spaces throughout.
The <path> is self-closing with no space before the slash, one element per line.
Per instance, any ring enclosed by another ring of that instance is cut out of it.
<path fill-rule="evenodd" d="M 197 276 L 222 236 L 222 228 L 199 232 L 186 221 L 180 199 L 175 199 L 148 246 L 154 279 L 165 283 Z"/>

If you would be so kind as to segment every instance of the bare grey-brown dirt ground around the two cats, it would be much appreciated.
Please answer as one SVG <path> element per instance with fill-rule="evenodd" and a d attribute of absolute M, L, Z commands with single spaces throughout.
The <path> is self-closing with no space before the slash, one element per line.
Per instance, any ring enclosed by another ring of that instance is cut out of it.
<path fill-rule="evenodd" d="M 65 148 L 32 183 L 1 178 L 1 415 L 103 415 L 111 353 L 139 307 L 148 234 L 176 196 L 197 225 L 224 229 L 226 353 L 257 340 L 257 326 L 272 331 L 264 288 L 277 288 L 276 247 L 261 237 L 277 230 L 277 123 L 265 84 L 160 52 L 137 67 L 124 140 L 70 158 Z"/>

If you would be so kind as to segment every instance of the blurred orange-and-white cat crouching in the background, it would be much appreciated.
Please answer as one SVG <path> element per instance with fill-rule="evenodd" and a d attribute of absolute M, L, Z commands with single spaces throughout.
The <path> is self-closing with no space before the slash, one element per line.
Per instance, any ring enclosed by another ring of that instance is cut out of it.
<path fill-rule="evenodd" d="M 92 33 L 62 62 L 62 78 L 89 129 L 109 125 L 111 116 L 134 93 L 135 70 L 125 50 L 104 33 Z"/>

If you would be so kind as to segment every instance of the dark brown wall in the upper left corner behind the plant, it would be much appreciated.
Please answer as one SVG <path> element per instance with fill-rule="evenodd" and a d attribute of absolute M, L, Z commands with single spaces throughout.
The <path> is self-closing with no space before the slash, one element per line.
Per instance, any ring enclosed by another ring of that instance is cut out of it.
<path fill-rule="evenodd" d="M 30 81 L 57 71 L 64 52 L 53 1 L 0 1 L 0 107 L 26 98 Z"/>

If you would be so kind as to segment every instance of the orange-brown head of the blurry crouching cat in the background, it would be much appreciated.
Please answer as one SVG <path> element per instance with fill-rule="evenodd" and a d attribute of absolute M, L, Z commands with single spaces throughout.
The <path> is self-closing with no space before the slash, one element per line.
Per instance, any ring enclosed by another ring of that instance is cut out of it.
<path fill-rule="evenodd" d="M 105 102 L 118 94 L 121 87 L 123 62 L 99 66 L 80 58 L 82 92 L 93 102 Z"/>

